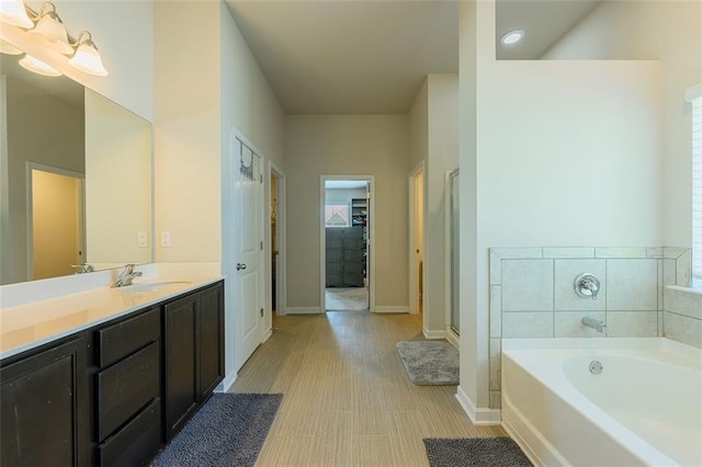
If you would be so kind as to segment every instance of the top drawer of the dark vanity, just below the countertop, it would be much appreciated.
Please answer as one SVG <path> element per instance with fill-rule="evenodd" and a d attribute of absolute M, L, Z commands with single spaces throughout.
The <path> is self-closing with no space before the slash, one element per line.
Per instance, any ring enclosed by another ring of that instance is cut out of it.
<path fill-rule="evenodd" d="M 161 335 L 159 308 L 98 331 L 98 366 L 107 366 Z"/>

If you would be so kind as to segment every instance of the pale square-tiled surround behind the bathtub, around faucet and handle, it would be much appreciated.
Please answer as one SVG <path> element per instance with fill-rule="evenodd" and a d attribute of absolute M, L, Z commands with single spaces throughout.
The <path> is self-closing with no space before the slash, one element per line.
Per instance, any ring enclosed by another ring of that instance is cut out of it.
<path fill-rule="evenodd" d="M 689 249 L 668 247 L 491 248 L 490 408 L 500 408 L 502 338 L 604 337 L 581 323 L 589 316 L 607 323 L 609 338 L 676 339 L 665 332 L 666 286 L 689 284 L 690 258 Z M 597 300 L 574 291 L 586 272 L 600 281 Z"/>

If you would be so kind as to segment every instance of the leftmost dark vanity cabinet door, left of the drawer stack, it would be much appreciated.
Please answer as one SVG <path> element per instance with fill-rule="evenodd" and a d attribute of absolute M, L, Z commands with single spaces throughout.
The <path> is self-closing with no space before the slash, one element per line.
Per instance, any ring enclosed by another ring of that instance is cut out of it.
<path fill-rule="evenodd" d="M 87 462 L 84 371 L 81 338 L 0 368 L 0 465 Z"/>

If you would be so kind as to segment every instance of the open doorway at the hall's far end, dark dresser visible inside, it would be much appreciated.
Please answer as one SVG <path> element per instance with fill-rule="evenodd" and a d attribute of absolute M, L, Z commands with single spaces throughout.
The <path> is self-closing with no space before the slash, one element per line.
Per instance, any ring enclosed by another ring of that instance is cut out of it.
<path fill-rule="evenodd" d="M 374 309 L 373 176 L 322 175 L 321 309 Z"/>

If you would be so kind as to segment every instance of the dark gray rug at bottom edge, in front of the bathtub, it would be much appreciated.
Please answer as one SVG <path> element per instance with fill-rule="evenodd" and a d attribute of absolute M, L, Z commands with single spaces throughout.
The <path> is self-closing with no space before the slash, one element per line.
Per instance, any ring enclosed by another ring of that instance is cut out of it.
<path fill-rule="evenodd" d="M 424 447 L 431 467 L 532 466 L 510 437 L 428 437 Z"/>

